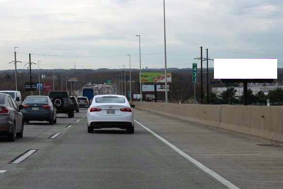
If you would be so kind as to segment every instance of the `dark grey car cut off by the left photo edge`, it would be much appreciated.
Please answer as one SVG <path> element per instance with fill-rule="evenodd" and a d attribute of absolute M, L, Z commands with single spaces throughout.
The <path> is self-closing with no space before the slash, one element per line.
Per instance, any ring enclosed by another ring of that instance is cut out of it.
<path fill-rule="evenodd" d="M 0 93 L 0 136 L 8 137 L 9 141 L 23 137 L 24 121 L 20 112 L 22 108 L 10 95 Z"/>

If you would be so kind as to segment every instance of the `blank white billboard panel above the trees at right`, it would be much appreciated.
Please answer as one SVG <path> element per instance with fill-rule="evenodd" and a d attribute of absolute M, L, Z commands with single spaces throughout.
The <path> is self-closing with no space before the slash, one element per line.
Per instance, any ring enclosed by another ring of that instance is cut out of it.
<path fill-rule="evenodd" d="M 214 59 L 214 79 L 277 79 L 277 59 Z"/>

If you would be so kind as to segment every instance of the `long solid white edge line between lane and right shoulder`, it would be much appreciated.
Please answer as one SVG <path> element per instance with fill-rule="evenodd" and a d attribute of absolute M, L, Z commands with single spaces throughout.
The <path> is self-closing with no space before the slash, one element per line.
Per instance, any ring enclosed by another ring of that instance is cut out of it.
<path fill-rule="evenodd" d="M 228 187 L 229 189 L 239 189 L 238 187 L 236 187 L 235 185 L 233 185 L 232 183 L 230 183 L 228 180 L 226 180 L 225 178 L 223 178 L 222 176 L 220 176 L 219 174 L 217 174 L 216 172 L 213 172 L 212 170 L 210 170 L 209 168 L 207 168 L 206 166 L 204 166 L 203 164 L 201 164 L 199 161 L 195 160 L 193 157 L 191 157 L 190 155 L 187 155 L 186 153 L 184 153 L 183 151 L 181 151 L 180 149 L 178 149 L 175 145 L 173 145 L 172 143 L 170 143 L 169 141 L 167 141 L 165 138 L 160 137 L 158 134 L 156 134 L 155 132 L 153 132 L 152 130 L 150 130 L 149 128 L 147 128 L 146 126 L 144 126 L 143 124 L 141 124 L 139 121 L 135 120 L 136 123 L 138 123 L 139 125 L 141 125 L 141 127 L 143 127 L 145 130 L 147 130 L 148 132 L 150 132 L 152 135 L 154 135 L 155 137 L 159 138 L 162 142 L 164 142 L 165 144 L 167 144 L 168 146 L 170 146 L 173 150 L 175 150 L 179 155 L 182 155 L 183 157 L 185 157 L 186 159 L 188 159 L 190 162 L 192 162 L 193 164 L 195 164 L 195 166 L 197 166 L 199 169 L 201 169 L 202 171 L 208 173 L 209 175 L 211 175 L 214 179 L 216 179 L 217 181 L 219 181 L 220 183 L 222 183 L 224 186 Z"/>

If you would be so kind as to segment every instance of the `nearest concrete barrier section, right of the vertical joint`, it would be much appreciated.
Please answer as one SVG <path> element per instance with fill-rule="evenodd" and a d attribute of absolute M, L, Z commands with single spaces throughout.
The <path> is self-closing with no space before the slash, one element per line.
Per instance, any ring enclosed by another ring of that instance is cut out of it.
<path fill-rule="evenodd" d="M 222 105 L 219 127 L 283 143 L 283 107 Z"/>

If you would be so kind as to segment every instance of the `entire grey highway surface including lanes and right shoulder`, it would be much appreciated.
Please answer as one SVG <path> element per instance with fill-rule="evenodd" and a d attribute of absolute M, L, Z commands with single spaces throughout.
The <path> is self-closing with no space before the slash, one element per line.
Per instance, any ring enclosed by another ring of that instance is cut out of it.
<path fill-rule="evenodd" d="M 135 134 L 87 133 L 86 109 L 0 138 L 1 189 L 282 188 L 283 148 L 135 110 Z"/>

